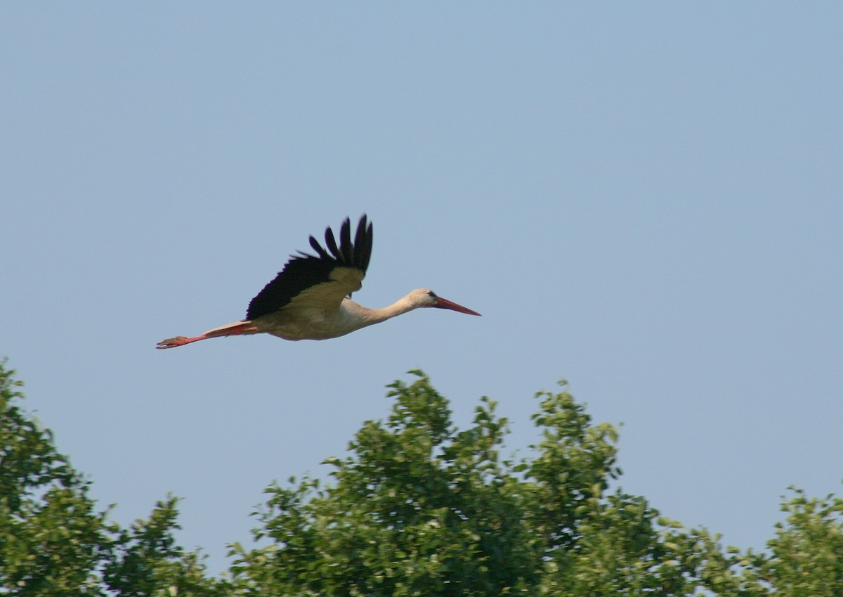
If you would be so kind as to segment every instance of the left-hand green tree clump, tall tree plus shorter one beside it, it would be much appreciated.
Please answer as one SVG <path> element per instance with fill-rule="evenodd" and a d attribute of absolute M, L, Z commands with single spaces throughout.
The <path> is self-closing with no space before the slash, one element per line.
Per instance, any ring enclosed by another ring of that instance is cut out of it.
<path fill-rule="evenodd" d="M 175 546 L 175 498 L 130 530 L 96 510 L 89 481 L 20 407 L 13 373 L 0 361 L 0 594 L 223 595 L 197 554 Z"/>

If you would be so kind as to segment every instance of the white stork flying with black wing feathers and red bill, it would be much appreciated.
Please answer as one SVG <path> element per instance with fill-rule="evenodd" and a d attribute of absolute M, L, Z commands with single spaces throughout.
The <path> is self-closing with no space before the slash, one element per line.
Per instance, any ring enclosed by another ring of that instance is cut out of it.
<path fill-rule="evenodd" d="M 372 255 L 372 224 L 366 214 L 357 224 L 352 241 L 352 224 L 346 218 L 340 242 L 325 229 L 325 247 L 310 237 L 316 255 L 299 251 L 291 255 L 277 277 L 251 300 L 244 320 L 215 327 L 191 338 L 175 336 L 158 342 L 157 348 L 175 348 L 221 336 L 271 334 L 284 340 L 325 340 L 345 336 L 367 325 L 389 320 L 420 307 L 451 309 L 480 315 L 462 305 L 418 288 L 384 309 L 368 309 L 349 297 L 360 290 Z"/>

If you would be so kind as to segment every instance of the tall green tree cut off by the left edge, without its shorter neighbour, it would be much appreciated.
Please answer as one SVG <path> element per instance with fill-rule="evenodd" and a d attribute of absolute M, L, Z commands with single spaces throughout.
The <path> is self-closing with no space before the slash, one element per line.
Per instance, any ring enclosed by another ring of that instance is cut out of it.
<path fill-rule="evenodd" d="M 93 572 L 111 546 L 105 515 L 50 431 L 18 406 L 21 385 L 0 363 L 0 586 L 19 595 L 99 594 Z"/>

